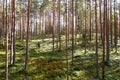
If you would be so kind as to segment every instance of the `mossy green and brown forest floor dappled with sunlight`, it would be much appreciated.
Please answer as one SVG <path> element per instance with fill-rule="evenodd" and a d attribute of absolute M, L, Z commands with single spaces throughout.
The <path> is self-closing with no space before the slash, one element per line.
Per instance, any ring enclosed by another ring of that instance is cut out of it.
<path fill-rule="evenodd" d="M 9 80 L 66 80 L 66 53 L 65 42 L 62 41 L 61 50 L 52 52 L 52 40 L 32 40 L 29 46 L 29 66 L 24 70 L 25 43 L 16 42 L 16 64 L 9 66 Z M 56 45 L 55 45 L 56 47 Z M 76 43 L 74 64 L 71 65 L 71 42 L 69 42 L 69 80 L 101 80 L 102 46 L 99 44 L 99 77 L 96 78 L 95 45 L 87 44 L 85 53 L 84 44 Z M 5 76 L 5 50 L 0 45 L 0 80 Z M 105 80 L 120 80 L 120 46 L 118 53 L 110 51 L 109 64 L 105 66 Z"/>

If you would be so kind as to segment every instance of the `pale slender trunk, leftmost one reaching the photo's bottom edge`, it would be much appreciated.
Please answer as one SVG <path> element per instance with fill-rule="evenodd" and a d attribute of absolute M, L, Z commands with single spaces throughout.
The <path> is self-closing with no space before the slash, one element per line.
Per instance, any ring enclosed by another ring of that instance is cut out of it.
<path fill-rule="evenodd" d="M 6 0 L 6 68 L 5 68 L 5 80 L 8 80 L 8 1 Z"/>

